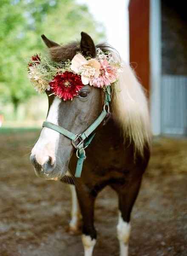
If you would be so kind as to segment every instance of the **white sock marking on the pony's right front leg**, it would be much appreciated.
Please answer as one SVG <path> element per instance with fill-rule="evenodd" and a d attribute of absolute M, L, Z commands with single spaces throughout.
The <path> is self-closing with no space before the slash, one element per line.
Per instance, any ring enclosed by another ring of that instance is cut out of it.
<path fill-rule="evenodd" d="M 117 235 L 119 240 L 120 256 L 128 256 L 128 241 L 130 237 L 130 223 L 123 220 L 119 212 L 119 221 L 117 225 Z"/>

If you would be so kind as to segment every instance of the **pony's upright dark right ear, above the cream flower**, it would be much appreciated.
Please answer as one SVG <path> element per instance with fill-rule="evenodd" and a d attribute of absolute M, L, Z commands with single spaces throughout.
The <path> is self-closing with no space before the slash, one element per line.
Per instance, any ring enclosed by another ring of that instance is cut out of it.
<path fill-rule="evenodd" d="M 80 49 L 83 55 L 95 57 L 96 47 L 92 38 L 85 32 L 81 32 Z"/>

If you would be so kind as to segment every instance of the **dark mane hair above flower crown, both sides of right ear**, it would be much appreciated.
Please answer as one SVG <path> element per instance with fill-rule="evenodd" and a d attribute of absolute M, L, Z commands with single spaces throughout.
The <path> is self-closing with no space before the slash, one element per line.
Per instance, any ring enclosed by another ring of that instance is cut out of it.
<path fill-rule="evenodd" d="M 97 44 L 96 48 L 102 49 L 103 52 L 111 51 L 118 54 L 116 49 L 105 43 Z M 77 52 L 81 52 L 79 41 L 74 41 L 69 44 L 49 48 L 49 54 L 51 56 L 51 59 L 56 62 L 67 59 L 72 60 Z"/>

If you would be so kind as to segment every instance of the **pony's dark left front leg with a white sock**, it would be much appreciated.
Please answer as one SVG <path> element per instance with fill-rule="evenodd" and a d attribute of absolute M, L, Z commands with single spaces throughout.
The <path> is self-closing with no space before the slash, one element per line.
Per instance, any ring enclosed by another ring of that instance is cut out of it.
<path fill-rule="evenodd" d="M 77 198 L 82 213 L 82 244 L 85 256 L 92 256 L 96 244 L 96 230 L 94 227 L 95 197 L 88 192 L 88 189 L 79 188 Z"/>

